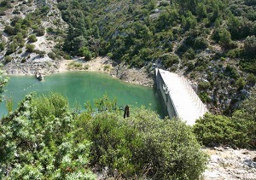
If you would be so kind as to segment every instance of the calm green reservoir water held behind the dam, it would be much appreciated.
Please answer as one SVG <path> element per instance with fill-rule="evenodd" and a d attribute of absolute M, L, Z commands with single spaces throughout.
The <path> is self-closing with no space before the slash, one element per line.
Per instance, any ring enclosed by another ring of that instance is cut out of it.
<path fill-rule="evenodd" d="M 41 82 L 34 76 L 9 77 L 4 95 L 13 99 L 15 107 L 24 96 L 34 91 L 37 94 L 58 92 L 67 96 L 70 107 L 73 107 L 74 102 L 79 102 L 84 107 L 84 102 L 93 102 L 95 98 L 107 93 L 109 98 L 117 98 L 118 106 L 128 104 L 141 107 L 143 105 L 159 113 L 160 117 L 166 115 L 163 112 L 161 97 L 154 88 L 127 84 L 104 73 L 56 73 L 46 76 Z M 6 113 L 5 102 L 2 102 L 0 117 Z"/>

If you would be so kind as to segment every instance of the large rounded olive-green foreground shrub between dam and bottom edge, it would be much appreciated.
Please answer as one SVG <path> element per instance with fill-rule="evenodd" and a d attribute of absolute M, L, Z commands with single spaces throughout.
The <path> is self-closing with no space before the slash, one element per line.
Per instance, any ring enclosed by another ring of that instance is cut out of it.
<path fill-rule="evenodd" d="M 117 113 L 100 113 L 94 118 L 83 113 L 79 127 L 91 142 L 91 165 L 108 166 L 119 177 L 197 179 L 207 156 L 200 150 L 189 126 L 182 121 L 159 119 L 145 109 L 132 109 L 128 119 Z M 168 172 L 168 173 L 167 173 Z"/>

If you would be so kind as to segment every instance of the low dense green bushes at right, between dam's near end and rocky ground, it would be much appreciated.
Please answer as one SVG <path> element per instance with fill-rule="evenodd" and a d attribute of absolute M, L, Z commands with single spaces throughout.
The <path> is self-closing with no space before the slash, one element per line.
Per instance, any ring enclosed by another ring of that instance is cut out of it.
<path fill-rule="evenodd" d="M 206 114 L 196 120 L 197 140 L 206 146 L 229 144 L 239 148 L 256 148 L 256 88 L 231 117 Z"/>

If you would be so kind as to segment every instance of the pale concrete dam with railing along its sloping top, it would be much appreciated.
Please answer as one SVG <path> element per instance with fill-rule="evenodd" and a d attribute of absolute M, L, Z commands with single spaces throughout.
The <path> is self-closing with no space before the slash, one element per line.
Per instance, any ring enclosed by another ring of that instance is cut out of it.
<path fill-rule="evenodd" d="M 195 120 L 207 113 L 207 107 L 183 76 L 155 69 L 157 89 L 166 105 L 169 117 L 177 117 L 194 125 Z"/>

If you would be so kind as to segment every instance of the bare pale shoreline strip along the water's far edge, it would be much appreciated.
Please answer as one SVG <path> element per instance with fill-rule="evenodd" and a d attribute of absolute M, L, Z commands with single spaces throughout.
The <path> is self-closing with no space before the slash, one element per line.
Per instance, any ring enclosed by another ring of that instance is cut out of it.
<path fill-rule="evenodd" d="M 4 75 L 16 76 L 35 76 L 41 73 L 44 77 L 49 74 L 67 73 L 67 72 L 91 72 L 105 73 L 113 78 L 119 78 L 121 81 L 129 84 L 139 84 L 147 87 L 154 86 L 154 78 L 144 67 L 129 68 L 125 64 L 117 65 L 116 62 L 108 57 L 96 57 L 90 61 L 84 61 L 83 58 L 75 57 L 72 60 L 61 61 L 36 61 L 24 64 L 10 63 L 3 67 Z"/>

